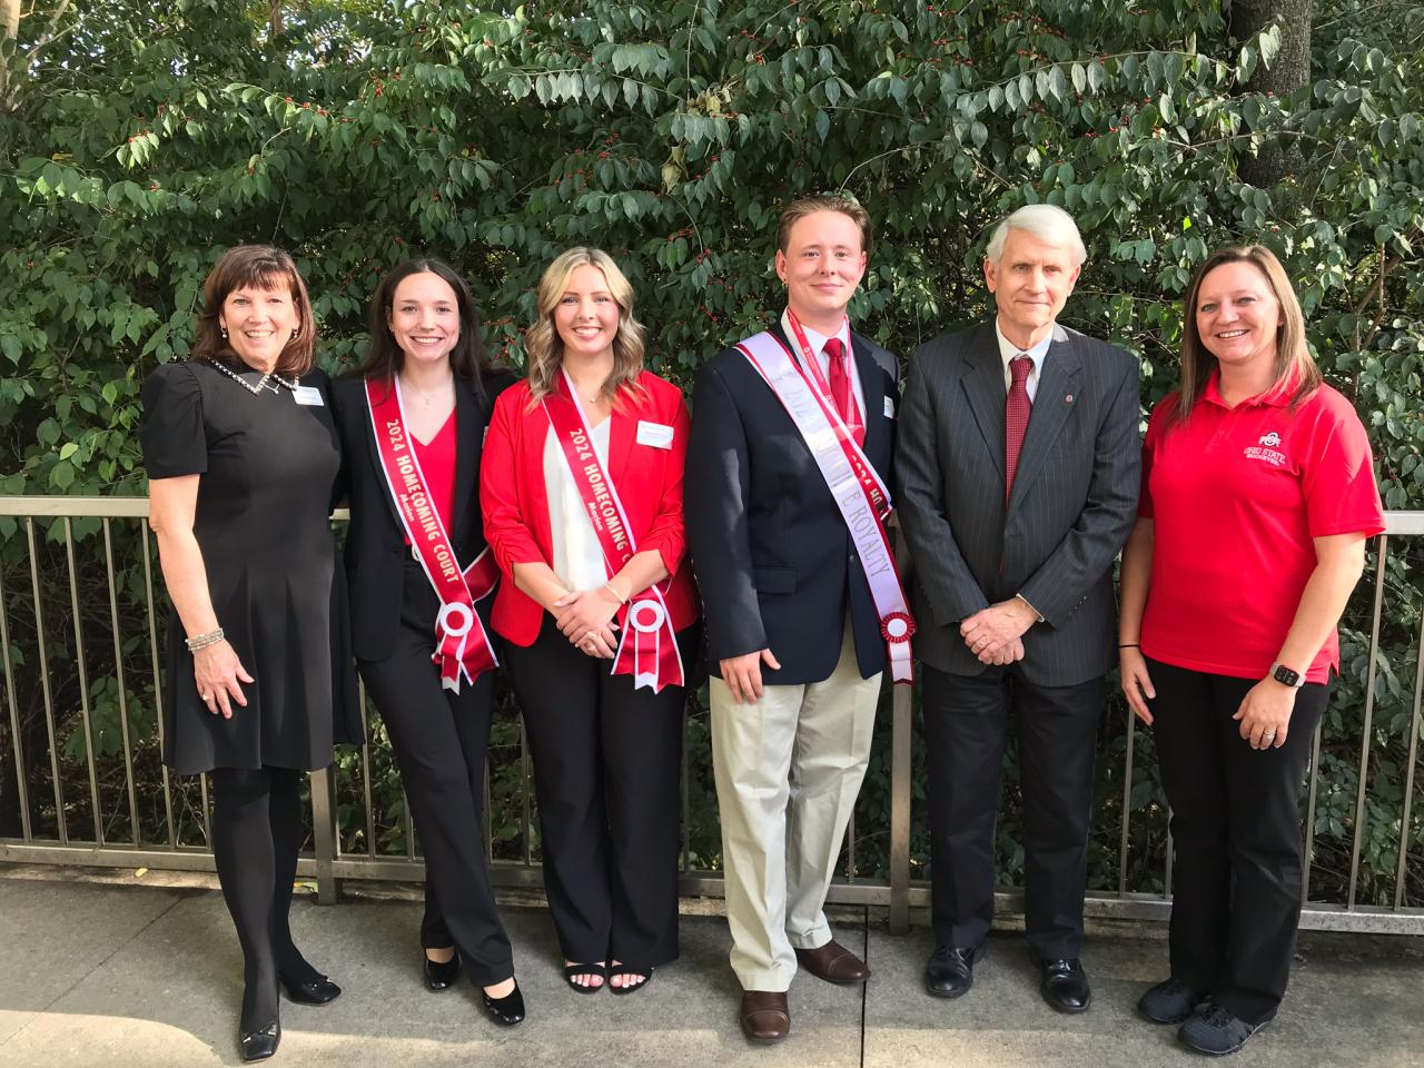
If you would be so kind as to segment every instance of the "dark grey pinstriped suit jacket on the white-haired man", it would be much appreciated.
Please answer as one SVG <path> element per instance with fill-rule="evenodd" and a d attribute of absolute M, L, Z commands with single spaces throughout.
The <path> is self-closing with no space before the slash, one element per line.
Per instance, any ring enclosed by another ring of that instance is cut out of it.
<path fill-rule="evenodd" d="M 1015 594 L 1044 617 L 1024 635 L 1030 682 L 1087 682 L 1116 661 L 1112 561 L 1138 507 L 1138 375 L 1122 349 L 1055 328 L 1005 510 L 994 322 L 916 350 L 896 506 L 914 564 L 914 651 L 926 664 L 983 672 L 960 622 Z"/>

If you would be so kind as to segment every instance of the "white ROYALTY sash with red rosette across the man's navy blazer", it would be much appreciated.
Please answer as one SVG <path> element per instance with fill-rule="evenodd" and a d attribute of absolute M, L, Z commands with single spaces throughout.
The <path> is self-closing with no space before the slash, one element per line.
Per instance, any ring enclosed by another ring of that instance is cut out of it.
<path fill-rule="evenodd" d="M 797 342 L 805 345 L 800 323 L 792 319 Z M 906 605 L 900 574 L 896 571 L 884 518 L 890 514 L 890 493 L 880 476 L 856 444 L 844 422 L 809 379 L 806 372 L 772 333 L 759 333 L 736 346 L 796 424 L 810 450 L 817 470 L 826 480 L 830 496 L 850 531 L 850 541 L 860 555 L 860 567 L 870 587 L 880 635 L 886 641 L 890 676 L 896 682 L 913 682 L 913 654 L 910 635 L 914 618 Z M 807 346 L 809 347 L 809 346 Z"/>

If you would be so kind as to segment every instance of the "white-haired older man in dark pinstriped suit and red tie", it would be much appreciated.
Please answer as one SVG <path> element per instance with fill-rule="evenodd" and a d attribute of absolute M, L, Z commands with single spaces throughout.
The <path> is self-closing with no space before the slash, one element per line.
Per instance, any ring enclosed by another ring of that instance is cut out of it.
<path fill-rule="evenodd" d="M 926 987 L 964 994 L 984 956 L 1012 716 L 1028 944 L 1065 1012 L 1092 998 L 1079 961 L 1092 763 L 1141 451 L 1136 359 L 1057 322 L 1084 259 L 1059 208 L 1021 208 L 994 231 L 984 279 L 998 313 L 914 353 L 897 493 L 924 665 Z"/>

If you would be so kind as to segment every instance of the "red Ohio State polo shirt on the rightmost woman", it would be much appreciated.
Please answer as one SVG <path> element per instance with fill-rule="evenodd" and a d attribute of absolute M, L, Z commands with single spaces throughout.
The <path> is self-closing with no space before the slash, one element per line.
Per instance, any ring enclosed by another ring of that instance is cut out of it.
<path fill-rule="evenodd" d="M 1142 443 L 1138 514 L 1155 535 L 1142 652 L 1265 678 L 1316 567 L 1312 538 L 1384 530 L 1370 440 L 1330 386 L 1294 410 L 1284 389 L 1227 407 L 1213 375 L 1192 417 L 1168 429 L 1178 396 L 1152 410 Z M 1339 666 L 1331 631 L 1306 679 Z"/>

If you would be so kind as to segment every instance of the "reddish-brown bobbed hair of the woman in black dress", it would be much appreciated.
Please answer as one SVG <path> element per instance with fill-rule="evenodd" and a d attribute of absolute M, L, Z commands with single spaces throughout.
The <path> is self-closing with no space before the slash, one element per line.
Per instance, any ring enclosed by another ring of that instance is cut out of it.
<path fill-rule="evenodd" d="M 299 379 L 316 363 L 316 323 L 312 316 L 312 300 L 306 295 L 306 283 L 296 272 L 296 263 L 286 252 L 271 245 L 238 245 L 229 248 L 202 282 L 202 312 L 198 316 L 198 336 L 192 342 L 188 359 L 218 360 L 236 370 L 246 365 L 222 336 L 218 316 L 228 293 L 244 286 L 279 289 L 286 286 L 296 308 L 298 326 L 273 370 L 278 375 Z"/>

